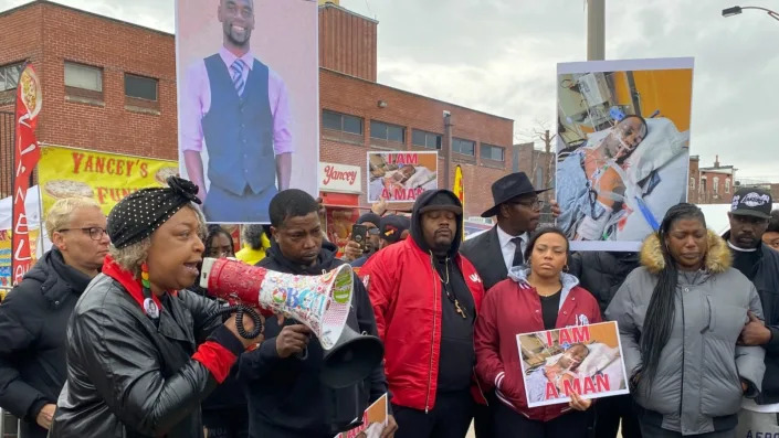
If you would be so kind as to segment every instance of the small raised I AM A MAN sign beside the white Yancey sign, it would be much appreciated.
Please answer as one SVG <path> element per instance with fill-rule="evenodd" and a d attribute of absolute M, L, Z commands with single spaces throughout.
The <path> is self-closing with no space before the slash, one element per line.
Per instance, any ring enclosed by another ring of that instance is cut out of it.
<path fill-rule="evenodd" d="M 368 202 L 414 202 L 438 184 L 438 152 L 368 152 Z"/>

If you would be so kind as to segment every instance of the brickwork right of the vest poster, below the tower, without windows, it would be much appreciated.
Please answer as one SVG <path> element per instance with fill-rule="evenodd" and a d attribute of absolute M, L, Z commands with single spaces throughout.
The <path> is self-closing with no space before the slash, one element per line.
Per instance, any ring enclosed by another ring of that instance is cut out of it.
<path fill-rule="evenodd" d="M 379 107 L 379 100 L 386 107 Z M 362 174 L 362 191 L 366 191 L 367 159 L 369 150 L 382 150 L 371 147 L 376 143 L 370 139 L 370 120 L 376 119 L 387 124 L 399 125 L 406 128 L 403 145 L 389 145 L 389 149 L 430 150 L 411 143 L 412 129 L 421 129 L 434 133 L 444 133 L 443 111 L 452 115 L 452 137 L 463 138 L 476 142 L 475 157 L 452 157 L 451 180 L 454 181 L 454 169 L 462 164 L 465 181 L 465 211 L 466 216 L 481 214 L 492 205 L 489 185 L 493 181 L 510 172 L 512 169 L 512 137 L 514 121 L 510 119 L 492 116 L 473 109 L 443 103 L 412 93 L 391 88 L 369 81 L 359 79 L 329 70 L 319 70 L 319 105 L 323 109 L 358 116 L 364 119 L 364 135 L 357 141 L 337 141 L 325 136 L 320 140 L 319 160 L 360 165 Z M 505 161 L 487 162 L 478 157 L 481 143 L 489 143 L 505 148 Z M 387 145 L 386 145 L 387 146 Z M 439 186 L 444 186 L 443 156 L 439 157 Z M 360 204 L 367 205 L 367 199 L 360 196 Z M 398 205 L 398 207 L 410 207 Z"/>

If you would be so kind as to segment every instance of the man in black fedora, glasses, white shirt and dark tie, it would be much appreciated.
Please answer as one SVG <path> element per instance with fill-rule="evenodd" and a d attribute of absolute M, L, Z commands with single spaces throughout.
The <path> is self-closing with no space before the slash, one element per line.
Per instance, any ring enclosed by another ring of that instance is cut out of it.
<path fill-rule="evenodd" d="M 544 201 L 525 172 L 507 174 L 492 185 L 495 205 L 482 213 L 482 217 L 496 217 L 497 224 L 486 233 L 463 243 L 460 252 L 476 266 L 484 281 L 484 290 L 505 280 L 512 266 L 525 263 L 523 254 L 529 242 L 529 233 L 536 229 Z M 559 207 L 552 202 L 552 215 Z"/>

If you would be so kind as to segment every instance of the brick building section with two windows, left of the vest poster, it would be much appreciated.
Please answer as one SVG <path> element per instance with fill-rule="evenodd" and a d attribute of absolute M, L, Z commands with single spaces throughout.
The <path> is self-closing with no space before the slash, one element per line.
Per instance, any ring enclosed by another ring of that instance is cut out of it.
<path fill-rule="evenodd" d="M 13 111 L 14 78 L 32 62 L 40 142 L 176 159 L 173 35 L 43 0 L 0 13 L 0 111 Z M 11 150 L 0 143 L 2 196 Z"/>

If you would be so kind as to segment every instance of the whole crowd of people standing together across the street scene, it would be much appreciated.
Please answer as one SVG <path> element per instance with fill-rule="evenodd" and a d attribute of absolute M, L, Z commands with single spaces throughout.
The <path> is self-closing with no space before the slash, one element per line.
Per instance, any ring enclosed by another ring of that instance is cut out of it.
<path fill-rule="evenodd" d="M 495 225 L 467 241 L 460 200 L 427 191 L 410 217 L 360 216 L 366 244 L 341 258 L 320 202 L 299 190 L 272 199 L 270 225 L 245 226 L 238 254 L 230 233 L 206 226 L 198 188 L 176 177 L 107 218 L 92 201 L 59 201 L 53 248 L 0 303 L 0 407 L 22 438 L 331 438 L 385 394 L 381 437 L 461 438 L 472 424 L 477 438 L 779 432 L 770 194 L 737 191 L 723 236 L 682 203 L 640 253 L 571 254 L 565 231 L 539 227 L 544 191 L 522 172 L 495 181 L 483 213 Z M 203 257 L 298 276 L 349 263 L 347 325 L 379 336 L 382 363 L 328 386 L 305 321 L 269 317 L 249 339 L 252 319 L 219 316 L 198 281 Z M 516 335 L 600 321 L 618 322 L 630 394 L 528 407 L 589 350 L 568 345 L 524 375 Z"/>

